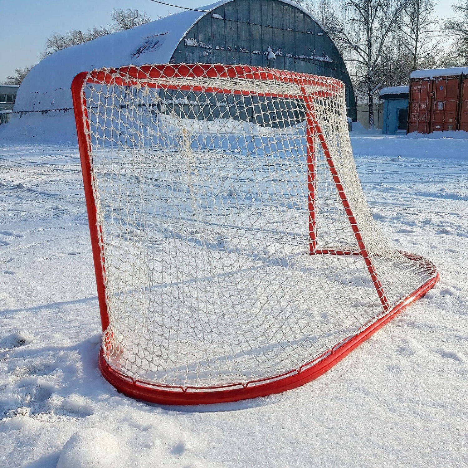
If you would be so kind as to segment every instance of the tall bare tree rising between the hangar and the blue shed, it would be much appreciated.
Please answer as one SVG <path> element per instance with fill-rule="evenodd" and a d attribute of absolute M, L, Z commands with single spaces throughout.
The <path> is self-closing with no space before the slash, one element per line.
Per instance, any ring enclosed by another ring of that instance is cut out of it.
<path fill-rule="evenodd" d="M 335 41 L 354 64 L 354 80 L 365 88 L 371 129 L 375 128 L 373 95 L 380 88 L 377 64 L 405 4 L 406 0 L 342 0 L 343 15 L 335 17 Z"/>

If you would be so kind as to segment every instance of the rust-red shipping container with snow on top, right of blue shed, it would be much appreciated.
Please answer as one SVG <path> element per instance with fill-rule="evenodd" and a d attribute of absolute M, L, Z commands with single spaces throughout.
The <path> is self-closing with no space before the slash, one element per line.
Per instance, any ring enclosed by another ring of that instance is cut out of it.
<path fill-rule="evenodd" d="M 411 73 L 407 132 L 468 131 L 467 81 L 467 67 Z"/>

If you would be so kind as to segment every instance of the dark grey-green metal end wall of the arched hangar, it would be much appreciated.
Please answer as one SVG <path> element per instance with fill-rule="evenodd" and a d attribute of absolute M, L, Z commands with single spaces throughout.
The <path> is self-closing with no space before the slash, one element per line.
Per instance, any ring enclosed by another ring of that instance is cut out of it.
<path fill-rule="evenodd" d="M 268 47 L 276 54 L 272 65 Z M 338 78 L 346 85 L 348 117 L 356 120 L 351 80 L 335 44 L 310 16 L 281 1 L 233 0 L 215 8 L 177 45 L 171 63 L 183 62 L 274 66 Z"/>

